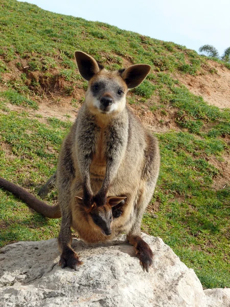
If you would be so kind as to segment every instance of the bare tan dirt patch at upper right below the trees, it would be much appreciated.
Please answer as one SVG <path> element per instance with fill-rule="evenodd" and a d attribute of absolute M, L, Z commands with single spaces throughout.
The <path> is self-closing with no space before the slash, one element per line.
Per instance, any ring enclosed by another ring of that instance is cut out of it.
<path fill-rule="evenodd" d="M 174 77 L 209 104 L 230 108 L 230 70 L 211 60 L 209 64 L 217 73 L 198 76 L 176 74 Z"/>

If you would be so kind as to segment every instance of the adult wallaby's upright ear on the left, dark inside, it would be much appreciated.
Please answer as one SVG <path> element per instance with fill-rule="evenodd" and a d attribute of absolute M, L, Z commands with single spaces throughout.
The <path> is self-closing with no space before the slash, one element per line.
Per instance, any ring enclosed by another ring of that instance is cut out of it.
<path fill-rule="evenodd" d="M 75 59 L 81 76 L 87 81 L 100 71 L 97 61 L 82 51 L 75 51 Z"/>

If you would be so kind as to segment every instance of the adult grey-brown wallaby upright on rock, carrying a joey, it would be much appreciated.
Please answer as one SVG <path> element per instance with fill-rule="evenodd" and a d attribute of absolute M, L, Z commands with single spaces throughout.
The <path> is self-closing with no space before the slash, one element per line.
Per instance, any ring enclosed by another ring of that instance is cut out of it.
<path fill-rule="evenodd" d="M 62 143 L 57 167 L 62 216 L 58 236 L 60 265 L 76 269 L 81 264 L 71 247 L 73 227 L 88 243 L 105 242 L 126 233 L 148 271 L 153 253 L 141 238 L 141 220 L 154 192 L 160 157 L 157 140 L 127 107 L 126 94 L 141 84 L 151 67 L 135 64 L 108 71 L 84 52 L 76 51 L 75 58 L 88 89 Z M 120 209 L 114 211 L 111 233 L 108 227 L 103 230 L 99 220 L 89 213 L 104 210 L 108 195 L 123 198 Z M 95 225 L 99 227 L 95 229 Z"/>

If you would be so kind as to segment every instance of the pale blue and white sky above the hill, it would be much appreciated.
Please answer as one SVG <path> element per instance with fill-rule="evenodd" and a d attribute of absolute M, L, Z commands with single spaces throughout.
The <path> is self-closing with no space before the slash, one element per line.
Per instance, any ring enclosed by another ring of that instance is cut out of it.
<path fill-rule="evenodd" d="M 42 9 L 101 21 L 198 52 L 230 47 L 229 0 L 27 0 Z"/>

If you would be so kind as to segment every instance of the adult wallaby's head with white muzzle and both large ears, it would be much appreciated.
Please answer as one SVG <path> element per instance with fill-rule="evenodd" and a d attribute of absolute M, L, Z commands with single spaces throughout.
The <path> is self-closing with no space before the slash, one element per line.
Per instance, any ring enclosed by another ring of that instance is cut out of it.
<path fill-rule="evenodd" d="M 141 84 L 151 69 L 147 64 L 135 64 L 123 70 L 108 71 L 84 52 L 76 51 L 75 58 L 81 76 L 88 81 L 85 102 L 96 115 L 114 116 L 122 112 L 128 90 Z"/>

